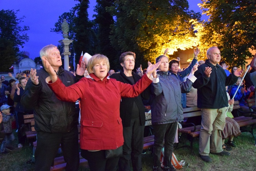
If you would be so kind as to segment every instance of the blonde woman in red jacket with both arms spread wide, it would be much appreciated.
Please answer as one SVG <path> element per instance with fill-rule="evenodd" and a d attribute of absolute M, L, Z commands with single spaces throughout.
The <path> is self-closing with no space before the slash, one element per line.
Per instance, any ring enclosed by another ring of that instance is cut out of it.
<path fill-rule="evenodd" d="M 55 59 L 52 59 L 55 60 Z M 106 159 L 105 151 L 117 149 L 124 143 L 122 119 L 119 107 L 121 97 L 136 97 L 152 80 L 157 82 L 155 70 L 160 65 L 148 62 L 145 75 L 134 85 L 125 84 L 108 77 L 109 59 L 96 54 L 89 61 L 89 75 L 79 82 L 66 87 L 46 58 L 42 58 L 48 86 L 56 97 L 62 101 L 75 102 L 81 99 L 81 156 L 88 160 L 89 167 L 94 171 L 116 170 L 119 157 Z M 155 78 L 153 79 L 150 75 Z M 37 79 L 36 71 L 30 73 L 32 79 Z"/>

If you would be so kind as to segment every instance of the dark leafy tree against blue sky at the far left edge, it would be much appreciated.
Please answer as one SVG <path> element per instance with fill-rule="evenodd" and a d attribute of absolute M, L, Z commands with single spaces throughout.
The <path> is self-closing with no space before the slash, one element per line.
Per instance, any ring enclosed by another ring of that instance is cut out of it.
<path fill-rule="evenodd" d="M 29 40 L 25 31 L 29 30 L 28 26 L 20 26 L 25 16 L 17 18 L 13 10 L 0 11 L 0 71 L 9 71 L 13 62 L 17 61 L 19 46 Z"/>

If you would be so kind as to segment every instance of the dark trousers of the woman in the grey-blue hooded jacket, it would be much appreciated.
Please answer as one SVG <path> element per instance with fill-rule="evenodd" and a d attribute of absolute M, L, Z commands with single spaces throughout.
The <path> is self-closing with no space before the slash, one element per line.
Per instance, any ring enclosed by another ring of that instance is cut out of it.
<path fill-rule="evenodd" d="M 153 159 L 154 166 L 160 167 L 161 149 L 165 147 L 165 157 L 163 158 L 163 165 L 166 167 L 171 166 L 172 151 L 174 138 L 177 130 L 177 123 L 152 125 L 155 132 L 154 145 L 153 145 Z"/>

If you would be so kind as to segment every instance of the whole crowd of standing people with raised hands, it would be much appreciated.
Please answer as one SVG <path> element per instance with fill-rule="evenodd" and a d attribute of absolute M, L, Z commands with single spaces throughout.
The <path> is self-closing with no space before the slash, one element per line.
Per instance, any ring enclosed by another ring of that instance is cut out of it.
<path fill-rule="evenodd" d="M 1 76 L 0 152 L 8 153 L 15 139 L 13 120 L 17 128 L 16 146 L 23 148 L 26 140 L 23 115 L 33 113 L 37 131 L 35 170 L 50 169 L 60 144 L 66 170 L 78 170 L 77 124 L 80 121 L 81 156 L 88 161 L 90 170 L 141 171 L 147 102 L 151 106 L 154 130 L 154 171 L 174 170 L 171 158 L 177 123 L 184 120 L 183 108 L 187 107 L 197 106 L 202 111 L 200 119 L 196 119 L 201 120 L 199 125 L 202 125 L 201 159 L 211 162 L 209 153 L 230 156 L 227 151 L 236 146 L 233 138 L 241 132 L 226 113 L 232 111 L 234 100 L 239 100 L 243 111 L 250 112 L 245 100 L 254 93 L 256 55 L 244 88 L 243 83 L 238 87 L 242 71 L 233 66 L 230 73 L 226 62 L 221 61 L 218 47 L 208 49 L 205 61 L 198 61 L 200 49 L 194 49 L 193 60 L 183 70 L 180 59 L 169 60 L 167 52 L 168 49 L 158 56 L 154 65 L 148 62 L 147 69 L 142 70 L 140 65 L 135 72 L 133 52 L 120 55 L 120 72 L 110 70 L 109 59 L 102 54 L 82 61 L 76 71 L 69 72 L 61 67 L 56 46 L 43 47 L 40 51 L 42 69 L 31 69 L 28 76 L 17 73 L 13 77 L 9 73 L 9 82 Z M 80 116 L 75 112 L 77 100 Z"/>

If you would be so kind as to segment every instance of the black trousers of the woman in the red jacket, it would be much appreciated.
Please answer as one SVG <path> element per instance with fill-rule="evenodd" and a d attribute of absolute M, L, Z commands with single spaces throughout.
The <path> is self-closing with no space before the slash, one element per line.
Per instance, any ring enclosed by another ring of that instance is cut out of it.
<path fill-rule="evenodd" d="M 105 150 L 89 152 L 86 149 L 81 149 L 81 156 L 88 161 L 91 171 L 116 171 L 117 170 L 119 157 L 106 159 Z"/>

